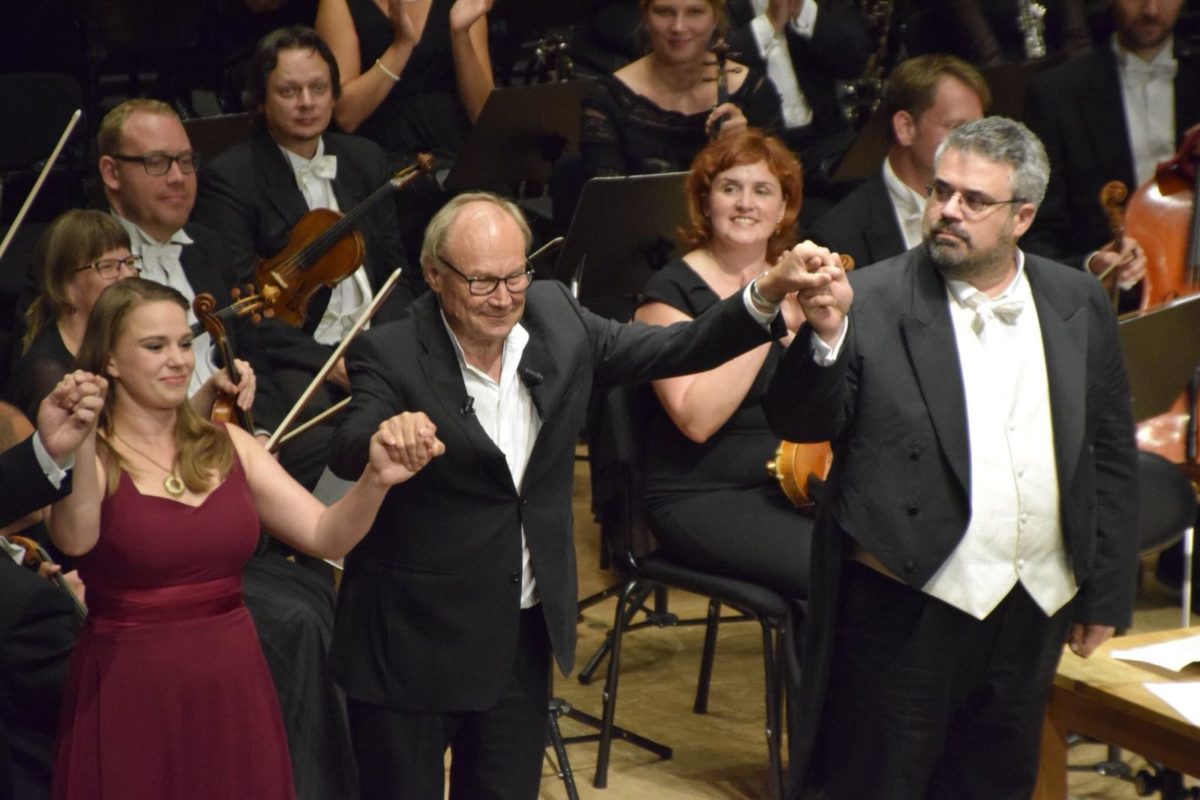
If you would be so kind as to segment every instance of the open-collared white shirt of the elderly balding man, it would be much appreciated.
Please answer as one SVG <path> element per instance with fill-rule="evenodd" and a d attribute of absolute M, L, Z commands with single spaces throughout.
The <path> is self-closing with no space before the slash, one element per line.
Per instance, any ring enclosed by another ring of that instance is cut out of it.
<path fill-rule="evenodd" d="M 508 462 L 509 471 L 512 474 L 512 487 L 520 492 L 533 445 L 541 431 L 541 416 L 533 403 L 533 395 L 517 374 L 521 355 L 529 343 L 529 332 L 520 323 L 509 331 L 500 356 L 500 380 L 497 383 L 482 369 L 467 363 L 462 345 L 446 324 L 444 314 L 442 323 L 458 356 L 458 369 L 462 372 L 467 395 L 472 398 L 475 419 L 492 443 L 504 453 L 504 461 Z M 522 525 L 521 608 L 532 608 L 536 603 L 538 581 L 533 573 L 529 545 Z"/>

